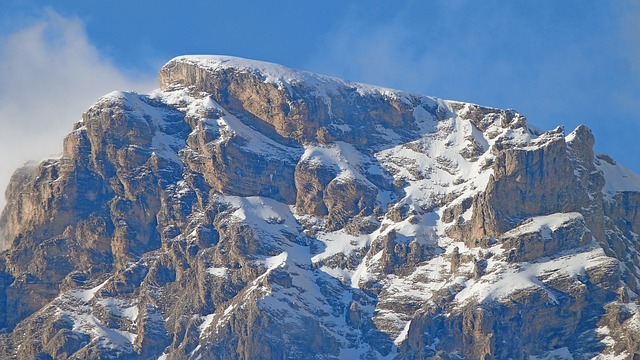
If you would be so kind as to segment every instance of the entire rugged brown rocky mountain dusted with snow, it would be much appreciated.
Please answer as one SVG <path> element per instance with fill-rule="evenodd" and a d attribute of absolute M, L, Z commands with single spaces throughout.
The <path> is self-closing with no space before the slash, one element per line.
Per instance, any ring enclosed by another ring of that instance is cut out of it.
<path fill-rule="evenodd" d="M 640 176 L 580 126 L 224 56 L 0 219 L 2 359 L 637 359 Z"/>

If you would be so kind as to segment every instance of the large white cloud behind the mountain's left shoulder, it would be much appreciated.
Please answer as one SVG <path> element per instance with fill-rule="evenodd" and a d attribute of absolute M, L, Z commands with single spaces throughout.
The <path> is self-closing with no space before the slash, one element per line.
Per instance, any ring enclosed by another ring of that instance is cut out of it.
<path fill-rule="evenodd" d="M 0 188 L 28 160 L 62 151 L 82 112 L 113 90 L 149 91 L 153 78 L 131 79 L 89 42 L 82 23 L 53 11 L 0 35 Z M 0 208 L 4 196 L 0 197 Z"/>

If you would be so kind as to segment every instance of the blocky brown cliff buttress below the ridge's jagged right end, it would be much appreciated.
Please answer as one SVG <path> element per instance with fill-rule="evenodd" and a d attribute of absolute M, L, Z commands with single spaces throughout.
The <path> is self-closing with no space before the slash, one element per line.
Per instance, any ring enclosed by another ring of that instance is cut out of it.
<path fill-rule="evenodd" d="M 557 128 L 537 139 L 536 146 L 498 144 L 493 175 L 474 198 L 473 217 L 462 225 L 461 236 L 496 236 L 532 216 L 582 211 L 591 230 L 603 238 L 602 206 L 591 200 L 604 185 L 593 164 L 593 135 L 585 127 L 572 135 L 568 142 Z"/>

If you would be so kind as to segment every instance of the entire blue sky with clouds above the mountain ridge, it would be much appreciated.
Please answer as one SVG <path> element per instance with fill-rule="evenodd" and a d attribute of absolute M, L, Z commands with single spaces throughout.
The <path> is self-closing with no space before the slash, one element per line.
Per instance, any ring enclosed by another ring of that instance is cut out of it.
<path fill-rule="evenodd" d="M 514 108 L 544 130 L 586 124 L 597 151 L 640 171 L 633 0 L 3 0 L 0 171 L 59 151 L 97 97 L 150 90 L 183 54 Z"/>

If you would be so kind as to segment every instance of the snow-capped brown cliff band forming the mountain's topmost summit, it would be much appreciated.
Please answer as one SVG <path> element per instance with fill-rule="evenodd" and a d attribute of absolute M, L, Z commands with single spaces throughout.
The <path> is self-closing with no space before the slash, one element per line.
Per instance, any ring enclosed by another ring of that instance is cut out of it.
<path fill-rule="evenodd" d="M 197 57 L 177 58 L 158 76 L 160 87 L 193 87 L 260 130 L 302 143 L 376 140 L 375 125 L 407 131 L 415 104 L 391 91 L 251 60 L 220 57 L 204 65 Z M 407 94 L 412 102 L 420 97 Z M 342 126 L 341 126 L 342 125 Z"/>

